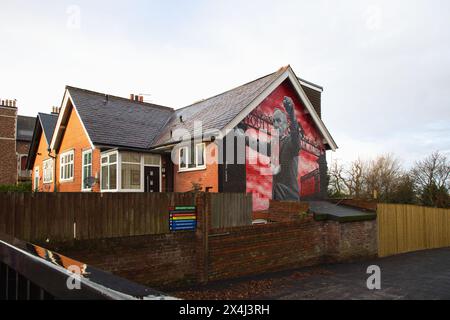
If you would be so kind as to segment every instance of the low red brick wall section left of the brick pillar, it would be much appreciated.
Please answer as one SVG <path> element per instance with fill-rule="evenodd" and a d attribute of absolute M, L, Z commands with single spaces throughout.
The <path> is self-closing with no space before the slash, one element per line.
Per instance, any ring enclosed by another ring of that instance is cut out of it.
<path fill-rule="evenodd" d="M 195 234 L 186 232 L 78 241 L 52 249 L 131 281 L 159 288 L 196 281 L 195 241 Z"/>

